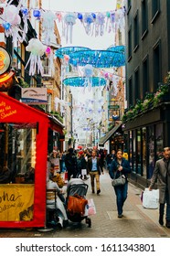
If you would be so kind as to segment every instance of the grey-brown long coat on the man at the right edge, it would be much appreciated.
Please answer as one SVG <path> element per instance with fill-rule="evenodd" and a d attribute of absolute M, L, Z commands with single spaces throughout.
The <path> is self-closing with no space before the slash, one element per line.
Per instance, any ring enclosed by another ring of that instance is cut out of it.
<path fill-rule="evenodd" d="M 167 175 L 167 184 L 166 184 L 166 175 Z M 165 189 L 168 188 L 168 198 L 167 202 L 170 204 L 170 163 L 167 167 L 165 159 L 159 159 L 155 163 L 154 174 L 151 178 L 150 187 L 154 187 L 154 183 L 157 181 L 157 187 L 159 189 L 159 203 L 165 204 Z"/>

